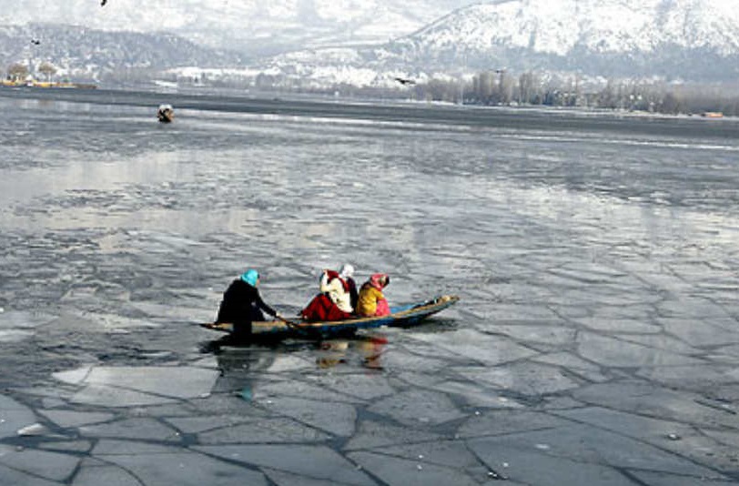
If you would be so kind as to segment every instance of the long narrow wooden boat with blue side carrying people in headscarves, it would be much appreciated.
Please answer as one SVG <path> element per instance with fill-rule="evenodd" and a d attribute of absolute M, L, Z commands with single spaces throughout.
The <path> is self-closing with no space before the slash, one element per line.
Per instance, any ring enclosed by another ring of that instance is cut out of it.
<path fill-rule="evenodd" d="M 265 320 L 252 322 L 251 334 L 255 339 L 284 338 L 325 338 L 337 334 L 349 334 L 357 329 L 379 328 L 380 326 L 405 327 L 419 323 L 421 320 L 440 312 L 457 303 L 460 298 L 454 295 L 443 295 L 416 304 L 390 307 L 390 315 L 353 318 L 333 321 Z M 233 324 L 228 322 L 206 323 L 200 326 L 223 332 L 231 332 Z"/>

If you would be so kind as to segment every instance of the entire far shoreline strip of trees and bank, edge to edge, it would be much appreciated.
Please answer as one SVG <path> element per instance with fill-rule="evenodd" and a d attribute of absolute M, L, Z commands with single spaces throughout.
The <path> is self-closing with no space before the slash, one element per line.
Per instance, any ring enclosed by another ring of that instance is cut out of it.
<path fill-rule="evenodd" d="M 485 84 L 484 78 L 477 76 L 470 83 L 448 83 L 431 81 L 417 83 L 405 90 L 387 87 L 331 86 L 330 88 L 284 86 L 281 84 L 244 86 L 242 84 L 211 82 L 197 84 L 174 80 L 139 80 L 136 83 L 118 84 L 113 80 L 104 83 L 106 89 L 125 90 L 134 88 L 143 92 L 162 92 L 175 94 L 196 91 L 223 91 L 229 96 L 318 96 L 321 98 L 396 101 L 412 103 L 438 103 L 457 106 L 489 106 L 510 109 L 552 108 L 571 109 L 584 112 L 611 112 L 614 114 L 633 114 L 634 116 L 701 116 L 709 119 L 739 116 L 739 91 L 722 90 L 716 86 L 676 85 L 656 86 L 637 84 L 612 84 L 600 90 L 587 91 L 577 86 L 567 88 L 540 87 L 526 90 L 522 84 Z M 108 86 L 109 85 L 109 86 Z M 125 86 L 125 87 L 124 87 Z M 501 89 L 500 86 L 503 86 Z M 25 79 L 0 79 L 0 89 L 14 88 L 78 88 L 97 89 L 96 83 L 72 81 L 41 81 L 32 77 Z"/>

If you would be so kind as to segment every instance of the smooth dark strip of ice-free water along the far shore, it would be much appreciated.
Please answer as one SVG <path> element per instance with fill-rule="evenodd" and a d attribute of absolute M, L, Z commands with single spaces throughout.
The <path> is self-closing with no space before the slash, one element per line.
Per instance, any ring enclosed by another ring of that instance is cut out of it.
<path fill-rule="evenodd" d="M 82 85 L 78 85 L 82 87 Z M 254 116 L 311 116 L 379 123 L 479 128 L 527 127 L 542 132 L 615 131 L 629 137 L 647 134 L 737 137 L 739 118 L 666 115 L 562 106 L 480 106 L 370 98 L 301 96 L 290 93 L 177 92 L 142 88 L 36 89 L 0 88 L 4 98 L 38 99 L 108 106 L 173 106 L 179 120 L 197 118 L 197 110 Z M 156 119 L 156 117 L 155 117 Z M 586 122 L 583 125 L 583 120 Z"/>

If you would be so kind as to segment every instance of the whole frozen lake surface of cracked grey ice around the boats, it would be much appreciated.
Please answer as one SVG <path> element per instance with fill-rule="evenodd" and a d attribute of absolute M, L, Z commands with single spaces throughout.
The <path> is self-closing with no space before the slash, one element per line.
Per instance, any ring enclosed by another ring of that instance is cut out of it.
<path fill-rule="evenodd" d="M 739 481 L 736 120 L 24 89 L 0 113 L 0 484 Z M 288 315 L 344 262 L 461 302 L 200 351 L 245 268 Z"/>

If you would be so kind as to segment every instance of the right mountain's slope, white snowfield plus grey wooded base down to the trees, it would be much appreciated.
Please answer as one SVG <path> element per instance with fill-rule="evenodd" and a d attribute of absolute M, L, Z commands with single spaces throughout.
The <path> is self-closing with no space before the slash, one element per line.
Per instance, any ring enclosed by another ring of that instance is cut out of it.
<path fill-rule="evenodd" d="M 404 59 L 604 76 L 734 76 L 739 11 L 724 0 L 505 0 L 389 46 Z"/>

